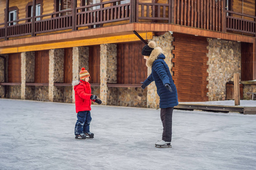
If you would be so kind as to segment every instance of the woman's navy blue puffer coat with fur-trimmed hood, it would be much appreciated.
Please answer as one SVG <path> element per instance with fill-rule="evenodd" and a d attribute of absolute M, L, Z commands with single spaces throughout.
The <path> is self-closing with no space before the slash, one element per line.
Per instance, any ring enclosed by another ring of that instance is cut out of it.
<path fill-rule="evenodd" d="M 152 81 L 155 81 L 157 92 L 160 97 L 160 108 L 175 107 L 179 104 L 177 100 L 176 86 L 172 80 L 170 69 L 164 61 L 165 58 L 166 57 L 162 53 L 162 49 L 159 47 L 155 48 L 151 52 L 146 65 L 152 68 L 152 72 L 143 82 L 144 85 L 148 86 Z M 166 83 L 170 84 L 172 92 L 164 86 Z"/>

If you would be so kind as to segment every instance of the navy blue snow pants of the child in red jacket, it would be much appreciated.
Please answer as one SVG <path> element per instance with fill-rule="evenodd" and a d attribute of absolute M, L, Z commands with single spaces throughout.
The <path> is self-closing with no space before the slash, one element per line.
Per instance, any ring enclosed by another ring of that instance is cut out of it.
<path fill-rule="evenodd" d="M 90 131 L 90 111 L 82 111 L 77 113 L 77 121 L 75 126 L 75 135 L 81 133 L 88 133 Z"/>

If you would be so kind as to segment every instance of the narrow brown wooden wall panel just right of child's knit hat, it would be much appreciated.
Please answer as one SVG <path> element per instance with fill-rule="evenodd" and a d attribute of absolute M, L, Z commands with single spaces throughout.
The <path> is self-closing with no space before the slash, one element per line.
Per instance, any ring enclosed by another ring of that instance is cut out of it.
<path fill-rule="evenodd" d="M 89 47 L 90 83 L 100 83 L 100 45 Z"/>

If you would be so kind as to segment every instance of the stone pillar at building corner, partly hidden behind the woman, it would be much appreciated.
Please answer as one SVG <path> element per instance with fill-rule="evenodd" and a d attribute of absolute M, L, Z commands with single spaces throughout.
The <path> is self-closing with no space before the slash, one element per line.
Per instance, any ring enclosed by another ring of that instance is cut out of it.
<path fill-rule="evenodd" d="M 159 46 L 163 50 L 164 56 L 166 56 L 166 63 L 170 68 L 170 71 L 172 69 L 173 63 L 172 58 L 172 49 L 174 47 L 172 46 L 173 37 L 170 32 L 164 33 L 162 36 L 154 36 L 152 41 L 156 42 L 156 46 Z M 151 74 L 151 68 L 147 69 L 147 74 Z M 171 71 L 171 75 L 173 75 Z M 156 91 L 155 82 L 152 82 L 149 86 L 147 86 L 147 107 L 148 108 L 159 108 L 159 96 Z"/>

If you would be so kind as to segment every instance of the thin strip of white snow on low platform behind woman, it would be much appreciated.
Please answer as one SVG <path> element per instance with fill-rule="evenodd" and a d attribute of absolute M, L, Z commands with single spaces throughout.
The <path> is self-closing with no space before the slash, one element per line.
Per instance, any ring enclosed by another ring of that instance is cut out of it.
<path fill-rule="evenodd" d="M 205 101 L 205 102 L 185 102 L 185 103 L 235 106 L 234 105 L 234 100 Z M 240 100 L 240 105 L 238 105 L 237 107 L 256 107 L 256 100 Z"/>

